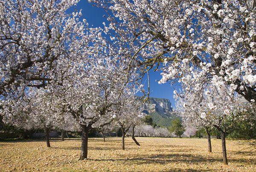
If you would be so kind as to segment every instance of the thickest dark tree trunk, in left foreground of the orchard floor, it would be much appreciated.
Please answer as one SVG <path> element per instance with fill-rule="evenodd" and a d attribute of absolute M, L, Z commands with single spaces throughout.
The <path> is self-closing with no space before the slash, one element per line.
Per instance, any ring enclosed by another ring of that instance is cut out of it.
<path fill-rule="evenodd" d="M 87 159 L 88 153 L 88 133 L 89 129 L 85 125 L 80 125 L 82 130 L 82 144 L 81 144 L 81 155 L 79 160 Z"/>

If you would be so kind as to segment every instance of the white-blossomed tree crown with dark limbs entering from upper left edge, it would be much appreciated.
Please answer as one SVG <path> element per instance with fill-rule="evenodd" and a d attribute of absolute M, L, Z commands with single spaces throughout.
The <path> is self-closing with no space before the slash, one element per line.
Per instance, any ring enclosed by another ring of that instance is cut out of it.
<path fill-rule="evenodd" d="M 26 86 L 61 84 L 61 60 L 79 57 L 86 21 L 67 14 L 79 0 L 0 1 L 0 95 L 24 95 Z M 78 53 L 78 54 L 77 54 Z"/>

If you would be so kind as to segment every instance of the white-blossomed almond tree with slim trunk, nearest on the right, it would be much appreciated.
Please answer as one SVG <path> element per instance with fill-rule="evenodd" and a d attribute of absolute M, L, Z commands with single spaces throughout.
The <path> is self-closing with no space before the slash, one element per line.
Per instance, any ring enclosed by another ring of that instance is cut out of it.
<path fill-rule="evenodd" d="M 247 106 L 251 105 L 244 97 L 234 94 L 229 86 L 225 88 L 222 86 L 222 89 L 218 89 L 214 85 L 208 85 L 204 89 L 189 90 L 189 94 L 183 92 L 178 96 L 179 104 L 183 104 L 183 107 L 180 106 L 180 115 L 186 122 L 194 123 L 195 126 L 215 127 L 221 132 L 223 163 L 227 165 L 227 132 L 234 123 L 244 118 L 240 112 L 246 111 Z M 185 90 L 188 89 L 186 87 Z"/>

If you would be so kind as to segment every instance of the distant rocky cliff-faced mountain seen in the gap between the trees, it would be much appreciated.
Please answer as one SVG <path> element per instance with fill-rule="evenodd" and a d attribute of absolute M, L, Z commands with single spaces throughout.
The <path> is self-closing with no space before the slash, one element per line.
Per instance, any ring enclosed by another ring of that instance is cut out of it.
<path fill-rule="evenodd" d="M 144 108 L 144 112 L 150 115 L 158 126 L 171 126 L 172 119 L 177 117 L 171 102 L 165 98 L 150 97 Z"/>

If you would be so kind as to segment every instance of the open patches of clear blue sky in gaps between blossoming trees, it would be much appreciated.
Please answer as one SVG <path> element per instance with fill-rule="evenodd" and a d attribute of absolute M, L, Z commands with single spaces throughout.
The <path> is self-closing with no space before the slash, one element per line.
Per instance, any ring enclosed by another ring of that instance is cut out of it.
<path fill-rule="evenodd" d="M 108 23 L 106 21 L 107 16 L 103 9 L 94 7 L 92 3 L 88 3 L 87 0 L 81 0 L 79 4 L 72 8 L 70 12 L 73 12 L 75 9 L 78 11 L 82 9 L 83 17 L 87 20 L 90 27 L 103 27 L 103 22 Z M 175 100 L 173 99 L 173 87 L 170 83 L 158 84 L 157 80 L 161 79 L 161 75 L 159 72 L 149 72 L 150 76 L 150 97 L 158 97 L 158 98 L 167 98 L 172 103 L 172 107 L 175 106 Z M 145 78 L 145 89 L 147 90 L 148 81 Z"/>

